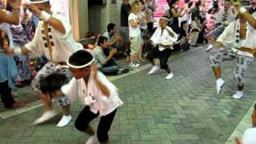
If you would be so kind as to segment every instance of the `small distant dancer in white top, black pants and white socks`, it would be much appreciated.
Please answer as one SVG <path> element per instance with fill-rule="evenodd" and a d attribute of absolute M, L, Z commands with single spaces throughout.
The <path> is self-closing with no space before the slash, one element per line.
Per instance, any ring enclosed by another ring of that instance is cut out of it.
<path fill-rule="evenodd" d="M 155 48 L 146 54 L 146 58 L 148 58 L 153 65 L 148 74 L 154 74 L 161 68 L 166 70 L 166 79 L 171 79 L 174 77 L 174 74 L 170 71 L 167 62 L 173 50 L 174 42 L 178 40 L 178 35 L 174 32 L 174 30 L 167 26 L 169 21 L 170 19 L 166 16 L 160 18 L 160 26 L 154 31 L 153 36 L 150 38 Z M 154 63 L 154 58 L 157 57 L 160 60 L 160 66 L 157 66 Z"/>

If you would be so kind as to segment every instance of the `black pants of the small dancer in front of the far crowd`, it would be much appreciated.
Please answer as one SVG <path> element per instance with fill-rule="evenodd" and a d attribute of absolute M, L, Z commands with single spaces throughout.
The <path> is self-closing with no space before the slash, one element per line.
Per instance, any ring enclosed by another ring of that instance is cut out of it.
<path fill-rule="evenodd" d="M 146 54 L 146 58 L 149 60 L 153 60 L 154 58 L 159 58 L 160 60 L 160 67 L 161 69 L 167 69 L 168 65 L 168 58 L 170 57 L 172 50 L 166 49 L 166 50 L 158 50 L 158 47 L 150 50 L 148 54 Z"/>

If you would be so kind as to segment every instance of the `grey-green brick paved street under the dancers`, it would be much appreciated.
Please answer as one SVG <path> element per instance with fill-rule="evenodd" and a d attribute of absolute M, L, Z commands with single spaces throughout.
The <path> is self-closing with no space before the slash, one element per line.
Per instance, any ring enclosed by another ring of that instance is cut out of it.
<path fill-rule="evenodd" d="M 214 75 L 207 61 L 209 54 L 199 47 L 170 58 L 172 80 L 149 69 L 114 81 L 121 91 L 124 105 L 118 110 L 110 130 L 114 144 L 208 144 L 225 143 L 255 101 L 254 63 L 246 74 L 245 97 L 234 100 L 233 70 L 235 63 L 223 65 L 226 85 L 216 96 Z M 27 93 L 29 94 L 29 93 Z M 82 110 L 80 102 L 72 106 L 75 119 Z M 58 118 L 39 126 L 32 122 L 40 117 L 42 107 L 7 119 L 0 119 L 0 143 L 78 143 L 88 136 L 69 126 L 57 128 Z M 98 124 L 95 120 L 93 126 Z"/>

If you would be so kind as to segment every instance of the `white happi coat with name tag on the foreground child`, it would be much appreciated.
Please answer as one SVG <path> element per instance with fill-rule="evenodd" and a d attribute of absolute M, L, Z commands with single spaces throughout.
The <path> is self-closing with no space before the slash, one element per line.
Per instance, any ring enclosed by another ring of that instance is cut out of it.
<path fill-rule="evenodd" d="M 88 84 L 83 78 L 72 78 L 71 81 L 62 86 L 62 92 L 70 98 L 70 102 L 74 102 L 75 98 L 79 98 L 82 104 L 86 105 L 85 98 L 93 96 L 96 102 L 90 105 L 90 111 L 94 114 L 99 112 L 100 116 L 110 114 L 116 110 L 118 106 L 122 106 L 122 101 L 119 98 L 118 90 L 112 82 L 110 82 L 104 74 L 98 71 L 98 80 L 110 91 L 110 97 L 102 94 L 95 83 L 95 79 L 90 74 Z"/>

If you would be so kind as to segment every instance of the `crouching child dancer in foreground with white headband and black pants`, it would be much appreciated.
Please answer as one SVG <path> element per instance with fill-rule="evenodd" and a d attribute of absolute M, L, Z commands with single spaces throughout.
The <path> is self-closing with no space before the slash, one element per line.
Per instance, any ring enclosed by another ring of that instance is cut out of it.
<path fill-rule="evenodd" d="M 74 78 L 53 95 L 68 95 L 70 102 L 78 97 L 85 105 L 74 125 L 78 130 L 90 134 L 86 144 L 96 143 L 97 137 L 100 143 L 108 143 L 108 131 L 114 115 L 118 107 L 122 106 L 117 88 L 97 70 L 93 56 L 86 50 L 78 50 L 66 63 Z M 96 135 L 89 123 L 98 115 L 100 121 Z"/>

